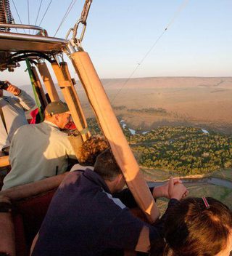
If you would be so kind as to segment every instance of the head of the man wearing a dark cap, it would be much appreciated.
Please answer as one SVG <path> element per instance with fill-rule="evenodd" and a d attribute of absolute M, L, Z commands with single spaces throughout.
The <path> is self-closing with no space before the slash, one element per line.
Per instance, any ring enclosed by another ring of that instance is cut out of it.
<path fill-rule="evenodd" d="M 66 103 L 54 101 L 49 103 L 45 108 L 45 120 L 56 124 L 60 129 L 70 122 L 70 111 Z"/>

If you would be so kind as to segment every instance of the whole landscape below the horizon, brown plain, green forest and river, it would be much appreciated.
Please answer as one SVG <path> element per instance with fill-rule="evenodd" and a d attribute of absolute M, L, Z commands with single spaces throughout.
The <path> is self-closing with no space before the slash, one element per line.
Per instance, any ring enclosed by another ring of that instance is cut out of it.
<path fill-rule="evenodd" d="M 183 177 L 191 195 L 232 207 L 232 77 L 137 78 L 126 86 L 126 79 L 101 81 L 147 181 Z M 91 132 L 99 134 L 76 83 Z M 22 88 L 32 95 L 30 86 Z"/>

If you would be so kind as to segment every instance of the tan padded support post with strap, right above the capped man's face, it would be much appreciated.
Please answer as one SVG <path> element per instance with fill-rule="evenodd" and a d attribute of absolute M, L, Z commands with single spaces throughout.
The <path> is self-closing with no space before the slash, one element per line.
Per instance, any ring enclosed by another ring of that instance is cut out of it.
<path fill-rule="evenodd" d="M 86 118 L 83 114 L 83 110 L 80 105 L 80 100 L 77 92 L 72 84 L 72 79 L 70 72 L 67 68 L 67 63 L 62 62 L 57 64 L 57 62 L 51 63 L 55 75 L 57 76 L 57 81 L 60 89 L 65 97 L 65 101 L 72 113 L 72 119 L 77 127 L 83 141 L 90 137 L 90 132 L 88 131 Z"/>

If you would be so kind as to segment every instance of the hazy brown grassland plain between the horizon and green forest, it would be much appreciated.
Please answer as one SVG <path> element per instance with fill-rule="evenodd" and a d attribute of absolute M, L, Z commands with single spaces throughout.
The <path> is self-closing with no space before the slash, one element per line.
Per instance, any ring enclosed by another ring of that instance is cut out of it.
<path fill-rule="evenodd" d="M 145 77 L 101 81 L 116 115 L 133 129 L 184 125 L 232 133 L 232 77 Z M 79 81 L 75 87 L 84 113 L 87 117 L 94 116 Z M 22 89 L 32 94 L 29 86 L 22 86 Z M 63 99 L 59 87 L 57 89 Z M 162 109 L 165 114 L 141 111 L 149 108 Z"/>

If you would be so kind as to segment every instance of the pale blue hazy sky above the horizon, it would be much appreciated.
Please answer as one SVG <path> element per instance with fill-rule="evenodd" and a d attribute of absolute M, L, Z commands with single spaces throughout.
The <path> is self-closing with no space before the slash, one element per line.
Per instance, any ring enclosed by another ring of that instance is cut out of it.
<path fill-rule="evenodd" d="M 22 23 L 34 25 L 41 0 L 14 0 Z M 51 0 L 43 0 L 41 18 Z M 41 26 L 54 36 L 70 0 L 53 0 Z M 80 17 L 84 1 L 76 1 L 57 33 L 64 38 Z M 16 23 L 20 23 L 10 0 Z M 181 12 L 180 7 L 184 8 Z M 93 0 L 88 15 L 83 48 L 101 78 L 145 76 L 232 76 L 231 0 Z M 173 19 L 174 18 L 174 19 Z M 171 23 L 170 23 L 171 22 Z M 2 76 L 28 84 L 23 67 L 17 80 L 4 71 Z"/>

